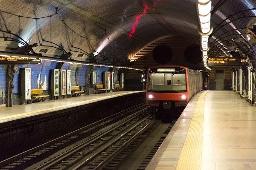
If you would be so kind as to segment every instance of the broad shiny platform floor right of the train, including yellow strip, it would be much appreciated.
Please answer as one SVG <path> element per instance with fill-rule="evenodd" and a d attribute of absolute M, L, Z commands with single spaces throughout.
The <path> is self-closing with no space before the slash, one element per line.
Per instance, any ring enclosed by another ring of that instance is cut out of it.
<path fill-rule="evenodd" d="M 256 170 L 255 113 L 233 91 L 201 91 L 146 170 Z"/>

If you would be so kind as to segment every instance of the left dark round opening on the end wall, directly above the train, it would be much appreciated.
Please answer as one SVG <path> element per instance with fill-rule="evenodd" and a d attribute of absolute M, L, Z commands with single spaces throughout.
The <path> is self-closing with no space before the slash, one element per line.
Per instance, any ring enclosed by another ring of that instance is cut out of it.
<path fill-rule="evenodd" d="M 167 45 L 157 45 L 152 52 L 152 57 L 158 64 L 167 64 L 172 59 L 172 49 Z"/>

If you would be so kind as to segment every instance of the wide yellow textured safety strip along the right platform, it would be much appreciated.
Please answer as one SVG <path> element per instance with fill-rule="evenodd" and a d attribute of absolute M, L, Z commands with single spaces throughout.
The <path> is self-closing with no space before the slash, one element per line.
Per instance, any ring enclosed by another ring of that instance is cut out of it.
<path fill-rule="evenodd" d="M 176 170 L 201 170 L 204 98 L 208 92 L 204 91 L 198 99 Z"/>

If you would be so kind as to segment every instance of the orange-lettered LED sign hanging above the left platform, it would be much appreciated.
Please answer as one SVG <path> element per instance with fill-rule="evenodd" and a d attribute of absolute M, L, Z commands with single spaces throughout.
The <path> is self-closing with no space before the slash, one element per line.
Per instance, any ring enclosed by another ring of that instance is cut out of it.
<path fill-rule="evenodd" d="M 2 57 L 0 56 L 0 65 L 22 65 L 22 64 L 41 64 L 41 60 L 31 59 L 26 57 Z"/>

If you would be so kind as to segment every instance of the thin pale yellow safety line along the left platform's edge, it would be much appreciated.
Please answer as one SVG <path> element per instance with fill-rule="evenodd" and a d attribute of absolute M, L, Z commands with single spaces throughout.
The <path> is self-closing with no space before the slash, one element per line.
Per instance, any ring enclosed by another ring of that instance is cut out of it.
<path fill-rule="evenodd" d="M 140 91 L 140 92 L 142 92 L 142 91 Z M 127 95 L 127 94 L 132 94 L 132 93 L 135 93 L 135 92 L 128 92 L 128 93 L 123 93 L 123 94 Z M 18 116 L 29 115 L 29 114 L 38 113 L 38 112 L 43 112 L 43 111 L 49 111 L 49 110 L 58 109 L 58 108 L 63 108 L 63 107 L 71 106 L 71 105 L 77 105 L 77 104 L 87 103 L 87 102 L 91 102 L 91 101 L 99 100 L 99 99 L 104 99 L 104 98 L 108 98 L 108 97 L 113 98 L 113 97 L 115 97 L 115 96 L 121 96 L 121 95 L 123 95 L 123 94 L 115 94 L 115 95 L 111 95 L 111 96 L 104 96 L 104 97 L 100 97 L 100 98 L 97 98 L 97 99 L 90 99 L 90 100 L 85 100 L 85 101 L 82 101 L 82 102 L 71 103 L 71 104 L 68 104 L 68 105 L 61 105 L 61 106 L 57 106 L 57 107 L 54 107 L 54 108 L 47 108 L 47 109 L 42 109 L 42 110 L 38 110 L 38 111 L 32 111 L 32 112 L 20 113 L 20 114 L 16 114 L 16 115 L 12 115 L 12 116 L 1 117 L 0 120 L 9 119 L 9 118 L 14 118 L 14 117 L 18 117 Z"/>

